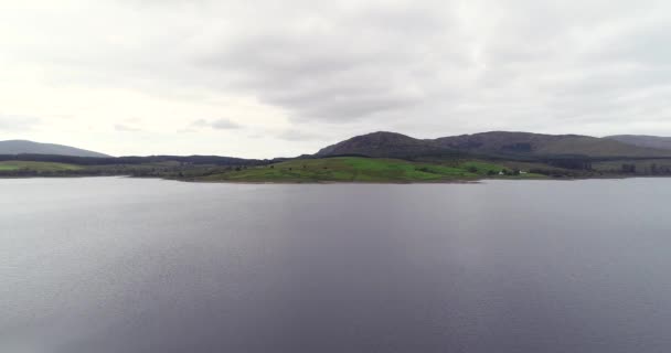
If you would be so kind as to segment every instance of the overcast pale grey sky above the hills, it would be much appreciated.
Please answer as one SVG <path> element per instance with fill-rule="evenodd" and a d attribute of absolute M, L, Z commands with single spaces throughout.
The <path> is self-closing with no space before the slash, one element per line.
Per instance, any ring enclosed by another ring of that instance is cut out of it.
<path fill-rule="evenodd" d="M 0 140 L 273 158 L 379 130 L 671 136 L 671 2 L 0 0 Z"/>

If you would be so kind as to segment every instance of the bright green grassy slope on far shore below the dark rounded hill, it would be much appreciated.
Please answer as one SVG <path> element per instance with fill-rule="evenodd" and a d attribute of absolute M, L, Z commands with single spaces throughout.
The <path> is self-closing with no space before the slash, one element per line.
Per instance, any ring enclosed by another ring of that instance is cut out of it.
<path fill-rule="evenodd" d="M 339 157 L 292 160 L 264 167 L 231 170 L 194 178 L 194 181 L 228 182 L 441 182 L 492 176 L 505 168 L 479 161 L 448 164 L 419 163 L 397 159 Z M 522 174 L 509 178 L 537 178 Z"/>

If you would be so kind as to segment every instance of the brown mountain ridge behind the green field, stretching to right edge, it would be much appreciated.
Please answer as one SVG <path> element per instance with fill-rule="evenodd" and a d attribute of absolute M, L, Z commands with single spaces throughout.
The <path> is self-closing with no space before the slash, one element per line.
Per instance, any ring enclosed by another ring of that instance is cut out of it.
<path fill-rule="evenodd" d="M 329 146 L 317 156 L 420 157 L 471 153 L 497 157 L 671 157 L 671 151 L 579 135 L 491 131 L 420 140 L 395 132 L 358 136 Z"/>

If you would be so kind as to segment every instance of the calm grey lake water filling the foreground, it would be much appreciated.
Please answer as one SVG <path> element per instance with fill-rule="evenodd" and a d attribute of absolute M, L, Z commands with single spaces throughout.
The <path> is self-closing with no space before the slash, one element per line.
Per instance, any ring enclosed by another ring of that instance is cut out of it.
<path fill-rule="evenodd" d="M 671 352 L 671 179 L 0 180 L 0 352 Z"/>

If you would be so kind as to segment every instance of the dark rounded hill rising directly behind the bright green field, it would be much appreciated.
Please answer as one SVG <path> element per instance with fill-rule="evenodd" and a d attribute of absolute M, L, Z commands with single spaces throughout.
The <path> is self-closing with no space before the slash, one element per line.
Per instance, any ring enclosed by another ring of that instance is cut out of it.
<path fill-rule="evenodd" d="M 379 131 L 353 137 L 349 140 L 326 147 L 317 157 L 368 156 L 406 158 L 436 153 L 451 153 L 434 140 L 419 140 L 396 132 Z"/>

